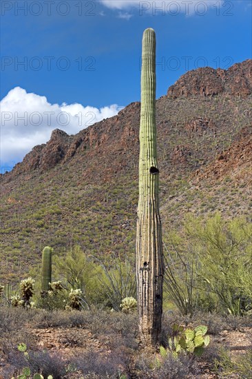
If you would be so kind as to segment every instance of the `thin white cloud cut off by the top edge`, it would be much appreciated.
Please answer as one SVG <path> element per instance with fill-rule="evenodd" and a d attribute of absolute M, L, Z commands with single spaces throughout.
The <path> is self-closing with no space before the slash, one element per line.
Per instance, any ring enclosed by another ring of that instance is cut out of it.
<path fill-rule="evenodd" d="M 116 10 L 138 8 L 139 15 L 160 14 L 199 14 L 204 15 L 210 8 L 220 7 L 224 0 L 100 0 L 104 6 Z M 216 9 L 217 12 L 217 9 Z"/>

